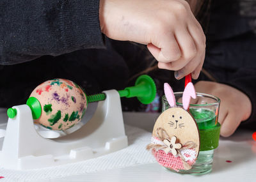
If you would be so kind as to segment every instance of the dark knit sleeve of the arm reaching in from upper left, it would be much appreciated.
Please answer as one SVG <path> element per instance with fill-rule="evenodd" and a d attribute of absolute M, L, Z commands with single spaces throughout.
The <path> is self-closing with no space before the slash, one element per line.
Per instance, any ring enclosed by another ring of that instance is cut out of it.
<path fill-rule="evenodd" d="M 99 0 L 0 1 L 0 64 L 104 48 Z"/>

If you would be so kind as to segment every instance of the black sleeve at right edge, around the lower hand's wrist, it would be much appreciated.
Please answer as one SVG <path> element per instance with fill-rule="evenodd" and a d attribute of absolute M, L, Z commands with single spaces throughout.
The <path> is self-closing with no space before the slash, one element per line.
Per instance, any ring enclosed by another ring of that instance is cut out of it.
<path fill-rule="evenodd" d="M 234 74 L 234 79 L 225 84 L 239 89 L 250 98 L 252 102 L 252 114 L 240 126 L 248 129 L 256 129 L 256 69 L 240 68 Z"/>

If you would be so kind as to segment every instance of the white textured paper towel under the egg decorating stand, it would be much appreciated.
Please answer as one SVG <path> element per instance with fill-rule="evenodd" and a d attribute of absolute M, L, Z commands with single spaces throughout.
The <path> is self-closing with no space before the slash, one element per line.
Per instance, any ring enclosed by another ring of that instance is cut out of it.
<path fill-rule="evenodd" d="M 150 132 L 125 125 L 125 133 L 128 137 L 129 146 L 120 151 L 116 151 L 115 153 L 85 160 L 83 162 L 69 163 L 44 169 L 16 171 L 0 168 L 0 176 L 4 176 L 4 178 L 0 180 L 29 181 L 36 179 L 60 178 L 156 162 L 150 152 L 146 150 L 146 146 L 150 142 Z"/>

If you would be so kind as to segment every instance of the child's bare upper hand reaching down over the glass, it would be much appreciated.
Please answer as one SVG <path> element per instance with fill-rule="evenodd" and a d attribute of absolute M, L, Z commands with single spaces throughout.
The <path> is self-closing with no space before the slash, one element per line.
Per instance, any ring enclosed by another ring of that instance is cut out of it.
<path fill-rule="evenodd" d="M 205 35 L 184 0 L 100 0 L 102 33 L 147 45 L 159 68 L 197 79 L 204 63 Z M 136 52 L 134 52 L 136 54 Z"/>

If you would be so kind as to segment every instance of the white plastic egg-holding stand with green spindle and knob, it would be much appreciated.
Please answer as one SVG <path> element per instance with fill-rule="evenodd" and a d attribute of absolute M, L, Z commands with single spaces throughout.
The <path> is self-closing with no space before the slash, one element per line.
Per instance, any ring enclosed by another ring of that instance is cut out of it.
<path fill-rule="evenodd" d="M 156 96 L 154 80 L 141 75 L 133 87 L 86 96 L 85 117 L 81 119 L 75 113 L 81 121 L 66 130 L 50 130 L 36 123 L 34 119 L 42 115 L 43 106 L 29 97 L 26 104 L 8 109 L 8 122 L 0 126 L 4 131 L 0 167 L 38 169 L 88 160 L 127 147 L 120 97 L 134 96 L 141 103 L 152 102 Z"/>

